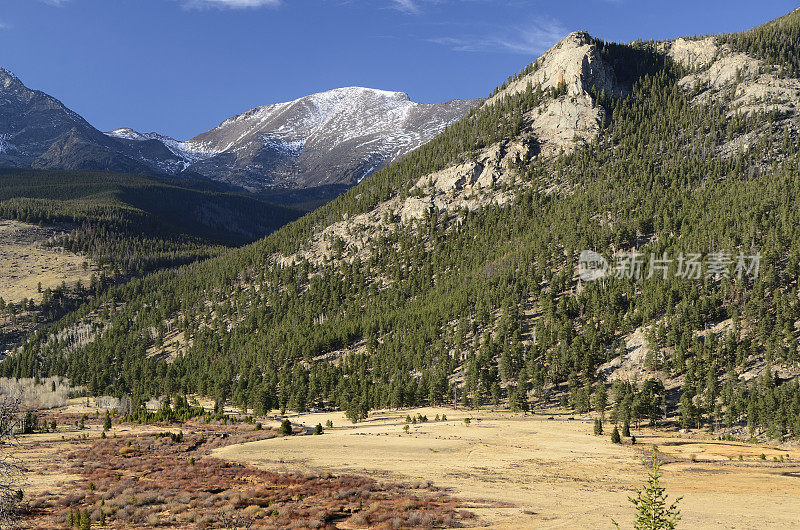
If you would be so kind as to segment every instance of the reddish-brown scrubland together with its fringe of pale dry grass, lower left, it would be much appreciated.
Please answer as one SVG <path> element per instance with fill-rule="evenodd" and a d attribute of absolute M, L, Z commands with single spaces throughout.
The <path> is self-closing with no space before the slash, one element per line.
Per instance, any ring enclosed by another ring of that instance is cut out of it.
<path fill-rule="evenodd" d="M 181 425 L 115 419 L 103 438 L 104 415 L 82 401 L 43 413 L 40 419 L 55 420 L 56 431 L 20 436 L 11 448 L 26 470 L 23 528 L 441 528 L 475 522 L 459 500 L 427 483 L 268 471 L 210 456 L 228 444 L 276 437 L 272 427 L 279 422 L 257 428 L 232 419 Z"/>

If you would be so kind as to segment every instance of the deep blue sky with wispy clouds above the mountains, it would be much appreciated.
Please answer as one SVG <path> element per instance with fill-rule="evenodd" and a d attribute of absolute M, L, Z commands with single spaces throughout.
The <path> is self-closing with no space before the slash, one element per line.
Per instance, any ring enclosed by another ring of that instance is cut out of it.
<path fill-rule="evenodd" d="M 102 130 L 179 139 L 340 86 L 487 95 L 564 34 L 739 31 L 797 0 L 0 0 L 0 66 Z"/>

